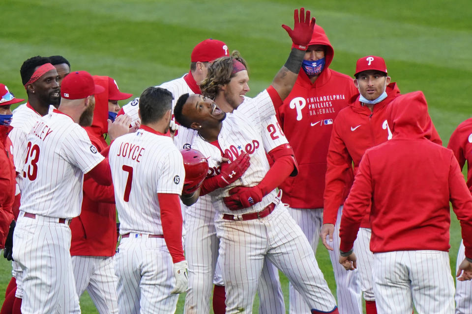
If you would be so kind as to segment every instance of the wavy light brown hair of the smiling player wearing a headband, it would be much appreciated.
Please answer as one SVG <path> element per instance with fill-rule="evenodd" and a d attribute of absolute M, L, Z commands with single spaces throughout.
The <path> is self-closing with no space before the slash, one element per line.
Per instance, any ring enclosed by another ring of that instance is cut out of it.
<path fill-rule="evenodd" d="M 231 56 L 214 60 L 213 63 L 208 66 L 207 78 L 200 84 L 200 90 L 204 96 L 214 100 L 220 87 L 228 84 L 231 78 L 236 76 L 236 74 L 232 73 L 233 60 L 235 59 L 248 69 L 246 60 L 241 57 L 241 54 L 237 50 L 233 51 Z"/>

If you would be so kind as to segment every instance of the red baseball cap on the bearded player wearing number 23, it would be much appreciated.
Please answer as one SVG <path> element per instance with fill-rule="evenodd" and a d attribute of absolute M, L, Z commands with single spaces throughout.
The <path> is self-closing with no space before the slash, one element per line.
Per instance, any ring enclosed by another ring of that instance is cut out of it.
<path fill-rule="evenodd" d="M 71 72 L 60 84 L 60 96 L 65 99 L 83 99 L 103 91 L 105 88 L 96 85 L 87 71 Z"/>

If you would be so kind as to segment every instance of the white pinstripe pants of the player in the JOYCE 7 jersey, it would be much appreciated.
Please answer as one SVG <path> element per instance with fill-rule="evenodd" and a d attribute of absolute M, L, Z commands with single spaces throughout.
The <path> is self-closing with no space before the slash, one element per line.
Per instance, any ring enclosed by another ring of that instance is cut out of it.
<path fill-rule="evenodd" d="M 175 313 L 173 262 L 163 238 L 131 233 L 115 255 L 119 314 Z"/>

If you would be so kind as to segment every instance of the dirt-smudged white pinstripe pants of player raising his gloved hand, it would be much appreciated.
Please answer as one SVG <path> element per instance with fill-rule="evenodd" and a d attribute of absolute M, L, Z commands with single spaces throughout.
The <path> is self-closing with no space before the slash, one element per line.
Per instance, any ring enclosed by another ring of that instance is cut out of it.
<path fill-rule="evenodd" d="M 336 301 L 318 267 L 306 236 L 284 204 L 261 219 L 215 219 L 226 288 L 226 313 L 252 313 L 254 295 L 269 259 L 301 293 L 312 309 L 329 312 Z"/>

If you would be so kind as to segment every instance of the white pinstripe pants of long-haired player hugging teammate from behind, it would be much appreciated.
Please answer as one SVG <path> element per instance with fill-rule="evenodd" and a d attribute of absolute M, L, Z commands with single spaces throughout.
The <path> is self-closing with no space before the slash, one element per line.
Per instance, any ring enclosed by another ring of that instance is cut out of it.
<path fill-rule="evenodd" d="M 190 214 L 185 216 L 185 258 L 188 262 L 189 287 L 185 297 L 186 314 L 209 313 L 213 284 L 224 286 L 221 259 L 217 258 L 219 240 L 214 219 L 210 220 Z M 267 260 L 264 261 L 257 292 L 260 314 L 285 314 L 279 272 Z"/>

